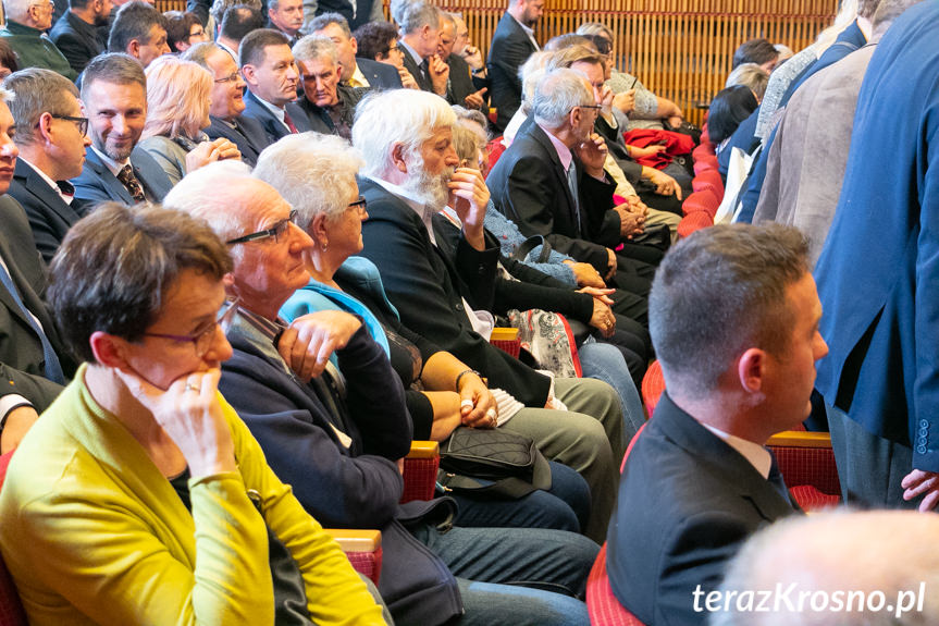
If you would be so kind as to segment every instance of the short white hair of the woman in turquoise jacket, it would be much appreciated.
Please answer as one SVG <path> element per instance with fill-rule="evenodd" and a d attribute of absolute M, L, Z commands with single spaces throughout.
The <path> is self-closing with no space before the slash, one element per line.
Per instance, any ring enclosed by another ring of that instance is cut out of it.
<path fill-rule="evenodd" d="M 301 133 L 264 148 L 254 176 L 277 189 L 297 210 L 297 225 L 309 231 L 318 214 L 342 217 L 363 164 L 358 150 L 342 137 Z"/>

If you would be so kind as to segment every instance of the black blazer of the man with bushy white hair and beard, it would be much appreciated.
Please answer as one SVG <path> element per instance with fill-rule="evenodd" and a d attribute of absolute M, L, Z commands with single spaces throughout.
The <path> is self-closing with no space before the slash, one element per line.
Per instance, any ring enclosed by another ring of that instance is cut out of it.
<path fill-rule="evenodd" d="M 369 202 L 361 256 L 378 266 L 401 323 L 481 371 L 491 386 L 543 407 L 548 379 L 477 334 L 462 304 L 466 297 L 472 306 L 492 308 L 498 246 L 480 253 L 461 237 L 452 261 L 401 199 L 368 179 L 359 180 L 359 192 Z"/>

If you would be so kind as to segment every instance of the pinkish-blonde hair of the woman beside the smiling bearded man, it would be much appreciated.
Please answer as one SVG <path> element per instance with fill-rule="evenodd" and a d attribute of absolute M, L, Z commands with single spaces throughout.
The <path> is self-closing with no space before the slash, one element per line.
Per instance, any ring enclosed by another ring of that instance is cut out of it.
<path fill-rule="evenodd" d="M 196 138 L 209 115 L 212 75 L 191 61 L 169 54 L 150 63 L 146 74 L 147 123 L 140 138 Z"/>

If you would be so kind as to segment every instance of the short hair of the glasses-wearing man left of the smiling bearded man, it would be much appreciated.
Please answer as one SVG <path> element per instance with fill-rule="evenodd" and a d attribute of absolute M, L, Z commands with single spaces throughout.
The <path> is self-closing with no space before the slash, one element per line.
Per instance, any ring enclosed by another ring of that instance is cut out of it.
<path fill-rule="evenodd" d="M 78 97 L 72 81 L 41 67 L 27 67 L 7 76 L 3 87 L 15 95 L 10 101 L 10 112 L 16 123 L 13 140 L 20 146 L 36 140 L 36 126 L 42 113 L 71 115 L 74 103 L 66 94 Z"/>

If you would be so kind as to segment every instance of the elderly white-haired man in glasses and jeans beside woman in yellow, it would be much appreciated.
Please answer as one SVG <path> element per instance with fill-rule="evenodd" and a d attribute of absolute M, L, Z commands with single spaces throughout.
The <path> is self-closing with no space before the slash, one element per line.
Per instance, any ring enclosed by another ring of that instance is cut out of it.
<path fill-rule="evenodd" d="M 448 499 L 398 504 L 398 465 L 412 428 L 404 389 L 360 318 L 329 310 L 289 327 L 279 321 L 281 306 L 309 281 L 304 253 L 313 242 L 294 223 L 291 205 L 242 168 L 215 164 L 187 176 L 168 206 L 208 220 L 235 251 L 228 291 L 239 302 L 226 333 L 234 356 L 220 389 L 277 475 L 323 523 L 382 530 L 379 589 L 396 621 L 435 625 L 465 611 L 484 624 L 585 625 L 585 606 L 568 596 L 583 592 L 597 552 L 586 538 L 544 529 L 444 532 L 437 525 L 453 515 Z M 334 349 L 344 392 L 326 363 Z"/>

